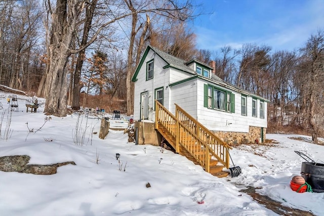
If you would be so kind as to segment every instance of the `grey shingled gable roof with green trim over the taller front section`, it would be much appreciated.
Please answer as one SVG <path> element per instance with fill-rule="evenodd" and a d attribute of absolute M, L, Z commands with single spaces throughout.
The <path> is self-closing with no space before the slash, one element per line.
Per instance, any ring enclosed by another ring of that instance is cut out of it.
<path fill-rule="evenodd" d="M 172 68 L 175 68 L 175 69 L 178 69 L 178 70 L 181 70 L 181 71 L 193 74 L 193 75 L 196 74 L 196 72 L 191 67 L 188 67 L 186 65 L 187 62 L 185 60 L 174 57 L 164 51 L 161 51 L 155 47 L 148 45 L 145 49 L 145 52 L 141 58 L 140 63 L 136 67 L 135 73 L 133 74 L 133 77 L 132 77 L 133 82 L 135 82 L 137 80 L 137 78 L 136 78 L 137 74 L 138 74 L 140 68 L 142 67 L 144 60 L 150 50 L 154 51 L 155 54 L 157 54 L 160 58 L 162 58 L 164 61 L 167 62 L 167 65 L 164 66 L 163 68 L 172 67 Z"/>

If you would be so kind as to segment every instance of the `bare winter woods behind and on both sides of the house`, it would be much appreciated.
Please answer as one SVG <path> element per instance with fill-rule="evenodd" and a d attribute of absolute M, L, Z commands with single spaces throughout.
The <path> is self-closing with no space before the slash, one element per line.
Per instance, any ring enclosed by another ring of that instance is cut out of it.
<path fill-rule="evenodd" d="M 295 51 L 245 44 L 212 52 L 196 47 L 187 26 L 197 10 L 191 0 L 0 0 L 0 84 L 47 98 L 47 114 L 78 110 L 87 100 L 81 92 L 126 100 L 132 114 L 131 76 L 150 44 L 184 60 L 215 61 L 220 78 L 270 100 L 272 125 L 301 126 L 317 140 L 323 30 Z"/>

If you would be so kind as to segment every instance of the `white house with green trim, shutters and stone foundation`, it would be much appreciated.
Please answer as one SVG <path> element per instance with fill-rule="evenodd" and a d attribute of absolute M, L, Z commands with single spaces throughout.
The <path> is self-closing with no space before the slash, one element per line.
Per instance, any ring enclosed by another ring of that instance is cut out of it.
<path fill-rule="evenodd" d="M 172 113 L 179 105 L 226 143 L 265 139 L 269 101 L 223 81 L 208 64 L 147 46 L 132 81 L 135 120 L 154 121 L 156 99 Z"/>

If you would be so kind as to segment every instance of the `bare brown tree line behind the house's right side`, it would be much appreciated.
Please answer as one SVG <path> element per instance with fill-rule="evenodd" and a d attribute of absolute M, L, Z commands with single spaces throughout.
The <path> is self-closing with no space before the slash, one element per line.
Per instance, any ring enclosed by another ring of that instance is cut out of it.
<path fill-rule="evenodd" d="M 270 100 L 268 122 L 275 131 L 290 125 L 304 129 L 315 142 L 324 136 L 323 30 L 295 51 L 245 44 L 239 50 L 224 46 L 214 56 L 216 75 Z"/>

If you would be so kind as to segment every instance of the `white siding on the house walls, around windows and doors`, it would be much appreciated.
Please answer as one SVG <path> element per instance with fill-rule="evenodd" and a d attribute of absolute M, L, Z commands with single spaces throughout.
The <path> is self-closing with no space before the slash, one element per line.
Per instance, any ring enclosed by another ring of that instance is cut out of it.
<path fill-rule="evenodd" d="M 146 62 L 154 59 L 153 78 L 146 80 Z M 241 115 L 241 94 L 235 95 L 235 113 L 204 107 L 204 84 L 208 81 L 192 79 L 169 87 L 192 75 L 174 68 L 163 69 L 167 63 L 150 50 L 137 75 L 134 90 L 134 119 L 140 119 L 141 93 L 149 91 L 149 107 L 154 108 L 154 90 L 163 87 L 164 106 L 175 114 L 175 103 L 212 131 L 249 132 L 249 126 L 267 127 L 267 102 L 264 102 L 264 118 L 260 118 L 260 100 L 257 99 L 257 117 L 252 117 L 252 97 L 247 97 L 247 116 Z M 193 64 L 194 65 L 194 64 Z M 218 87 L 214 83 L 211 85 Z M 226 90 L 224 87 L 220 89 Z M 149 109 L 149 120 L 155 120 L 155 111 Z"/>

